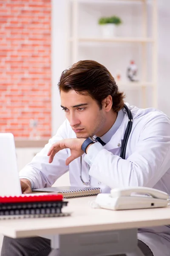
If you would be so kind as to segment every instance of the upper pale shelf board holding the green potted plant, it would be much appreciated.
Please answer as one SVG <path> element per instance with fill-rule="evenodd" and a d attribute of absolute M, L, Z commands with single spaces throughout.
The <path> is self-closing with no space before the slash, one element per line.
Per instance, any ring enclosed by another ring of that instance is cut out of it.
<path fill-rule="evenodd" d="M 147 43 L 153 42 L 153 38 L 144 37 L 115 37 L 115 38 L 69 38 L 69 41 L 73 42 L 77 40 L 78 42 L 129 42 L 129 43 Z"/>

